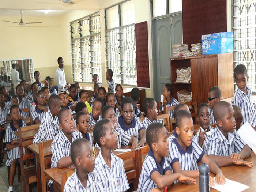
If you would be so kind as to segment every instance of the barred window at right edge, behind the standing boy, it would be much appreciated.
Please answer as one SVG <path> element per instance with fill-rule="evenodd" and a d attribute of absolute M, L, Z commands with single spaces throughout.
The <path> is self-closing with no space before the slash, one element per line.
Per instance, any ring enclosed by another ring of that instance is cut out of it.
<path fill-rule="evenodd" d="M 244 64 L 248 86 L 256 91 L 256 10 L 251 0 L 233 0 L 234 67 Z"/>

